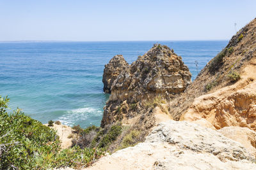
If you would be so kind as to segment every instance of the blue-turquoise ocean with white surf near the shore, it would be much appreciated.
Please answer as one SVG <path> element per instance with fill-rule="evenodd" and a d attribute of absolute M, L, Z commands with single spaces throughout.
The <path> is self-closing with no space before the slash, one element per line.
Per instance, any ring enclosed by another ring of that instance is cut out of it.
<path fill-rule="evenodd" d="M 104 64 L 116 54 L 131 64 L 154 43 L 181 55 L 194 80 L 228 41 L 0 42 L 0 95 L 44 124 L 100 125 Z"/>

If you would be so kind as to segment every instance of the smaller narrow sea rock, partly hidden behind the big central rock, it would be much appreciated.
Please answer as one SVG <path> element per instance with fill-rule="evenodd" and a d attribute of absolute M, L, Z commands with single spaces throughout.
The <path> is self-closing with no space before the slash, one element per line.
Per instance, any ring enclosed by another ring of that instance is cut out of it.
<path fill-rule="evenodd" d="M 125 61 L 123 55 L 115 55 L 108 64 L 105 65 L 102 82 L 104 84 L 104 92 L 111 93 L 111 86 L 116 77 L 125 69 L 128 69 L 129 64 Z"/>

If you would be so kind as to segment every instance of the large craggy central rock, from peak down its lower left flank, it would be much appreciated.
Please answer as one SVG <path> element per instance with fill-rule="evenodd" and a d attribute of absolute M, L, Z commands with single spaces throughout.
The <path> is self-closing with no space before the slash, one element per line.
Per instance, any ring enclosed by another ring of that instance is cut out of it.
<path fill-rule="evenodd" d="M 134 117 L 143 102 L 180 94 L 190 83 L 191 73 L 181 57 L 168 46 L 154 45 L 113 81 L 101 126 Z"/>

